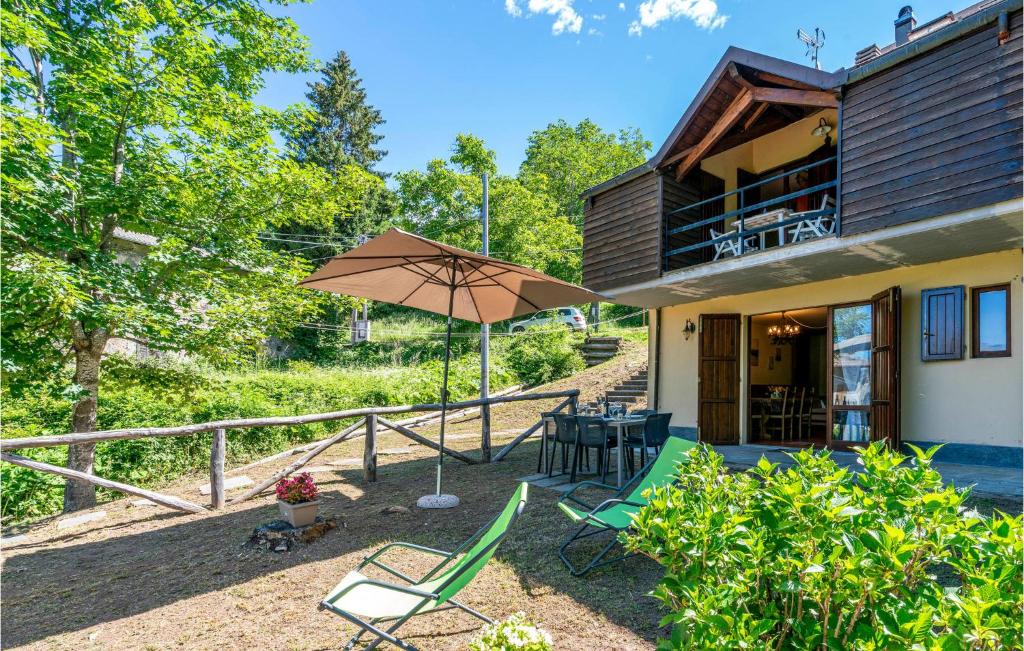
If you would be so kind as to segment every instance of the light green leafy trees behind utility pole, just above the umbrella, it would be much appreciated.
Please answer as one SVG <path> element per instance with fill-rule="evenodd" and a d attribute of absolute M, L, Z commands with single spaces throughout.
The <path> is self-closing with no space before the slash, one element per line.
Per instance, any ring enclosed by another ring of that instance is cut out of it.
<path fill-rule="evenodd" d="M 519 179 L 497 174 L 495 153 L 470 134 L 459 134 L 447 160 L 425 172 L 396 174 L 403 225 L 426 237 L 479 251 L 482 225 L 480 174 L 490 178 L 492 255 L 571 281 L 580 279 L 580 233 L 555 202 Z"/>

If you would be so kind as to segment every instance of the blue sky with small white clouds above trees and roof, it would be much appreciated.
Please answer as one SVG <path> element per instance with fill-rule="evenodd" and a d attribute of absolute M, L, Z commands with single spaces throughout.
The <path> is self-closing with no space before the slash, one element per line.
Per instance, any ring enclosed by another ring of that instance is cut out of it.
<path fill-rule="evenodd" d="M 919 23 L 959 4 L 915 2 Z M 280 9 L 312 54 L 352 58 L 387 124 L 381 169 L 422 169 L 471 132 L 515 173 L 526 137 L 559 118 L 639 127 L 656 148 L 729 45 L 805 61 L 796 31 L 826 35 L 822 68 L 893 41 L 901 3 L 754 0 L 313 0 Z M 534 9 L 534 10 L 531 10 Z M 673 17 L 675 16 L 675 17 Z M 560 32 L 557 33 L 556 32 Z M 632 33 L 631 33 L 632 32 Z M 314 76 L 275 75 L 261 100 L 303 98 Z"/>

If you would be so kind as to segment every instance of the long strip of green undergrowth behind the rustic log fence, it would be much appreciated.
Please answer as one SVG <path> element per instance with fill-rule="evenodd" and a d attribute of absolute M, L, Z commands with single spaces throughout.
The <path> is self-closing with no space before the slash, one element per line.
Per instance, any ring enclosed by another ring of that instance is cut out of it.
<path fill-rule="evenodd" d="M 439 397 L 441 363 L 412 367 L 316 368 L 308 362 L 289 364 L 289 371 L 248 371 L 225 374 L 174 360 L 104 360 L 97 409 L 97 429 L 161 427 L 222 419 L 315 414 L 360 406 L 435 402 Z M 479 358 L 453 360 L 449 383 L 453 399 L 474 397 L 479 391 Z M 514 383 L 499 364 L 490 376 L 495 390 Z M 32 391 L 4 391 L 4 438 L 66 434 L 74 394 L 67 379 L 40 383 Z M 328 436 L 347 425 L 312 423 L 293 427 L 228 430 L 227 460 L 243 464 L 289 446 Z M 210 434 L 141 438 L 96 446 L 97 475 L 140 486 L 156 486 L 189 472 L 203 472 L 210 463 Z M 22 450 L 26 457 L 62 466 L 63 447 Z M 57 513 L 63 480 L 0 465 L 0 512 L 24 520 Z M 117 493 L 101 491 L 108 497 Z"/>

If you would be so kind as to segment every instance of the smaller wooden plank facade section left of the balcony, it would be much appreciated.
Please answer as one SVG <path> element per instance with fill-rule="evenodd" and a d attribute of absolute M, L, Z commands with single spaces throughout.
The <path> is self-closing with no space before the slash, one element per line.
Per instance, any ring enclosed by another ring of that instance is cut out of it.
<path fill-rule="evenodd" d="M 583 281 L 597 291 L 662 273 L 662 182 L 646 172 L 588 198 Z"/>

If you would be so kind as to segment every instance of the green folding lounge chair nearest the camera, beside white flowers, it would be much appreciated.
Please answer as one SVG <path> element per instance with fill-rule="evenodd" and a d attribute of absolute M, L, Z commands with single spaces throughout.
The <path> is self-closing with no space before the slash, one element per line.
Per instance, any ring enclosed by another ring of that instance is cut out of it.
<path fill-rule="evenodd" d="M 385 641 L 401 649 L 415 649 L 413 645 L 395 637 L 394 633 L 398 626 L 414 615 L 452 608 L 459 608 L 492 623 L 489 618 L 457 602 L 454 597 L 487 564 L 525 506 L 526 484 L 521 483 L 498 517 L 454 552 L 442 552 L 411 542 L 392 542 L 384 546 L 364 559 L 357 569 L 349 572 L 319 603 L 319 610 L 330 610 L 361 628 L 348 641 L 346 649 L 354 648 L 359 638 L 368 632 L 374 634 L 376 639 L 367 646 L 367 649 L 373 649 Z M 425 575 L 413 578 L 379 560 L 387 551 L 394 548 L 438 556 L 443 560 Z M 362 569 L 368 565 L 375 565 L 404 583 L 370 578 L 362 573 Z M 382 624 L 390 625 L 385 628 Z"/>

